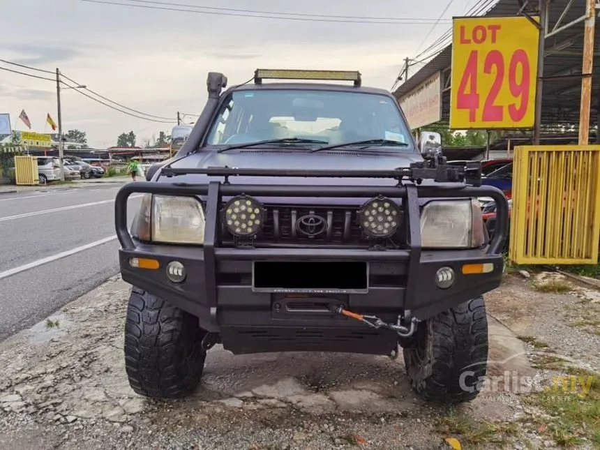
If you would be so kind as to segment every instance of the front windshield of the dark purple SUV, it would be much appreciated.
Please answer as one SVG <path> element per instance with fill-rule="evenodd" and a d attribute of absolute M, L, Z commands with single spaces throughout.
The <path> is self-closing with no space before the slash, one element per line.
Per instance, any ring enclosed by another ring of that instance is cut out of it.
<path fill-rule="evenodd" d="M 393 99 L 344 91 L 235 91 L 225 100 L 213 122 L 207 144 L 248 144 L 288 138 L 321 141 L 294 143 L 294 147 L 384 139 L 408 144 L 407 147 L 389 145 L 393 151 L 414 152 L 410 130 Z M 382 147 L 387 146 L 377 146 Z"/>

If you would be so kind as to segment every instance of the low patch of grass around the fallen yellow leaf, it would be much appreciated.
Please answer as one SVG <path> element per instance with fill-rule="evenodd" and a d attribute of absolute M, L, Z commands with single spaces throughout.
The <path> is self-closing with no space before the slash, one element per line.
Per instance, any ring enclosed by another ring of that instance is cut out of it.
<path fill-rule="evenodd" d="M 511 422 L 477 421 L 449 410 L 437 420 L 436 428 L 447 437 L 456 437 L 463 448 L 477 444 L 507 444 L 518 433 L 518 425 Z"/>

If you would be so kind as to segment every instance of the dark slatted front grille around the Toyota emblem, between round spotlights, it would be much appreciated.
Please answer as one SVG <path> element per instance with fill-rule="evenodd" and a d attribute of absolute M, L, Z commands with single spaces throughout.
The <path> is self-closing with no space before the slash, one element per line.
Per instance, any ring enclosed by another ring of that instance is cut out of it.
<path fill-rule="evenodd" d="M 265 205 L 265 209 L 267 216 L 262 232 L 257 236 L 257 243 L 365 246 L 369 244 L 369 240 L 357 222 L 357 208 Z M 311 217 L 314 219 L 312 229 L 310 228 Z M 305 223 L 297 227 L 301 218 L 306 219 Z M 321 220 L 327 226 L 319 233 Z M 223 231 L 226 240 L 232 239 L 226 229 Z M 398 241 L 398 234 L 399 232 L 392 239 L 393 241 Z"/>

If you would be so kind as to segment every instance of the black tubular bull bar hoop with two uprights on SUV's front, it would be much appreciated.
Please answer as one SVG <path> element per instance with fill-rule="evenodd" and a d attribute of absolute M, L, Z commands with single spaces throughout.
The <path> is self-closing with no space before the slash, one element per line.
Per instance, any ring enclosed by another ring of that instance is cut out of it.
<path fill-rule="evenodd" d="M 286 172 L 286 171 L 282 171 Z M 135 250 L 135 243 L 127 227 L 127 200 L 132 193 L 149 193 L 158 195 L 204 195 L 207 197 L 205 211 L 206 227 L 204 229 L 204 280 L 207 289 L 207 306 L 210 309 L 211 323 L 216 323 L 217 310 L 217 285 L 216 268 L 220 220 L 219 207 L 223 196 L 234 196 L 245 193 L 247 195 L 269 197 L 367 197 L 384 195 L 391 198 L 403 198 L 405 215 L 407 217 L 406 241 L 409 252 L 406 250 L 393 250 L 395 253 L 407 254 L 407 283 L 405 296 L 410 309 L 411 302 L 418 290 L 418 274 L 421 264 L 421 215 L 419 213 L 419 197 L 460 198 L 460 197 L 492 197 L 497 205 L 497 230 L 486 248 L 486 254 L 499 255 L 508 234 L 509 204 L 504 193 L 493 186 L 462 186 L 458 188 L 443 188 L 441 186 L 260 186 L 253 184 L 230 184 L 220 181 L 209 181 L 202 184 L 177 184 L 158 183 L 151 181 L 137 181 L 128 183 L 119 189 L 114 202 L 114 220 L 117 237 L 123 250 Z M 281 251 L 281 250 L 278 250 Z M 368 252 L 369 250 L 363 250 Z M 357 250 L 349 249 L 350 253 Z M 382 250 L 385 253 L 385 250 Z M 412 274 L 412 275 L 411 275 Z"/>

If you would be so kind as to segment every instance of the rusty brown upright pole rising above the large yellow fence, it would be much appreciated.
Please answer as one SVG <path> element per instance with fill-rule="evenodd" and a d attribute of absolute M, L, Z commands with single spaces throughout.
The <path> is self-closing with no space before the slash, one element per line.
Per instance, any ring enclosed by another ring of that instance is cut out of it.
<path fill-rule="evenodd" d="M 596 1 L 587 0 L 583 34 L 583 63 L 581 73 L 581 105 L 579 110 L 579 145 L 590 143 L 590 103 L 592 101 L 592 66 L 594 63 L 594 28 Z"/>

